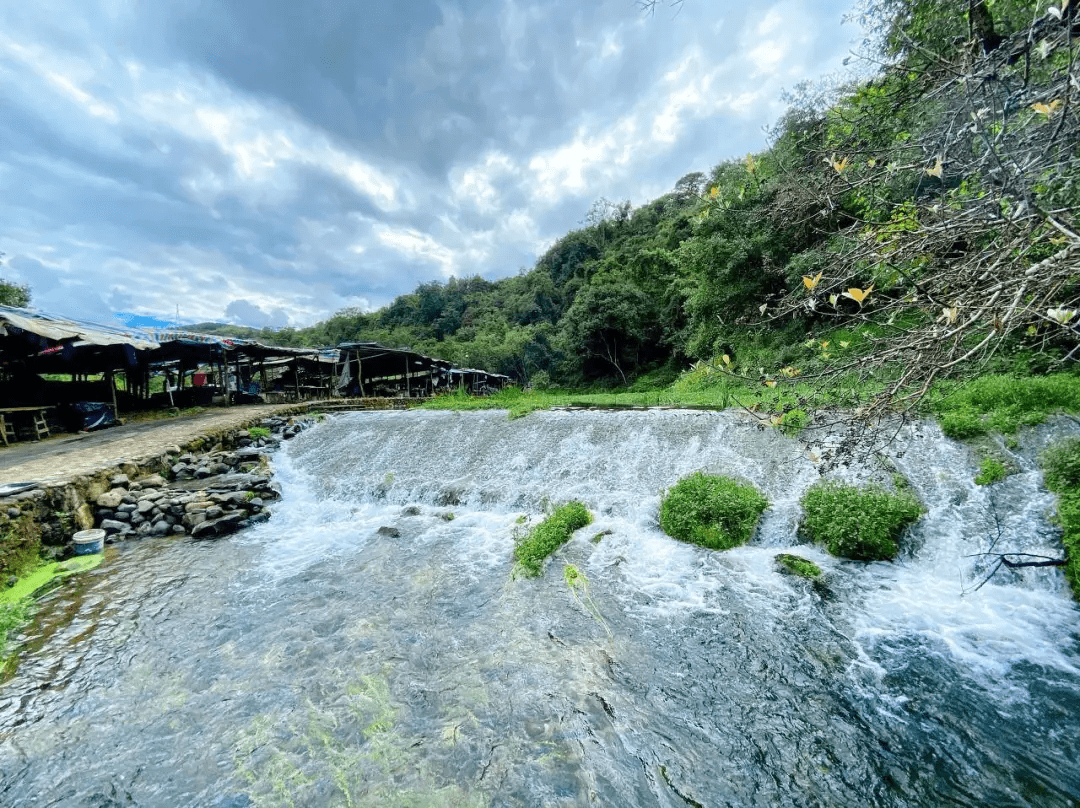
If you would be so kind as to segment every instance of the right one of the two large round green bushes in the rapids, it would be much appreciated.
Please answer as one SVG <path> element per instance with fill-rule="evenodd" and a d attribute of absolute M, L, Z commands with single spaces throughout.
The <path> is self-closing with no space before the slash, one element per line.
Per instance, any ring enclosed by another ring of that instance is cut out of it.
<path fill-rule="evenodd" d="M 922 514 L 909 493 L 892 494 L 875 485 L 819 483 L 801 500 L 800 530 L 833 555 L 856 561 L 896 557 L 896 540 Z"/>

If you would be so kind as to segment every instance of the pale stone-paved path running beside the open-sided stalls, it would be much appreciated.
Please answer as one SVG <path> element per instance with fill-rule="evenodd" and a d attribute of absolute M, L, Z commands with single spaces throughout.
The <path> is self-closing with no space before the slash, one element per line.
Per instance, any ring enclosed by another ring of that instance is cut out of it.
<path fill-rule="evenodd" d="M 0 446 L 0 484 L 32 482 L 51 485 L 109 469 L 122 462 L 153 457 L 212 430 L 240 427 L 295 405 L 237 406 L 207 409 L 192 416 L 143 421 L 89 434 L 64 434 L 45 441 Z"/>

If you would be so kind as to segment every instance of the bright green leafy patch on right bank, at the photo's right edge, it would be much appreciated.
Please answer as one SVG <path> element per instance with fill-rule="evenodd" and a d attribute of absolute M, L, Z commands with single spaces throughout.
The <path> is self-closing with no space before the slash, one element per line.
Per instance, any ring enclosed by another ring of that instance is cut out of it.
<path fill-rule="evenodd" d="M 1080 410 L 1080 377 L 1071 373 L 980 376 L 941 386 L 930 396 L 930 409 L 942 431 L 956 440 L 1012 434 L 1022 426 L 1042 423 L 1053 413 Z"/>

